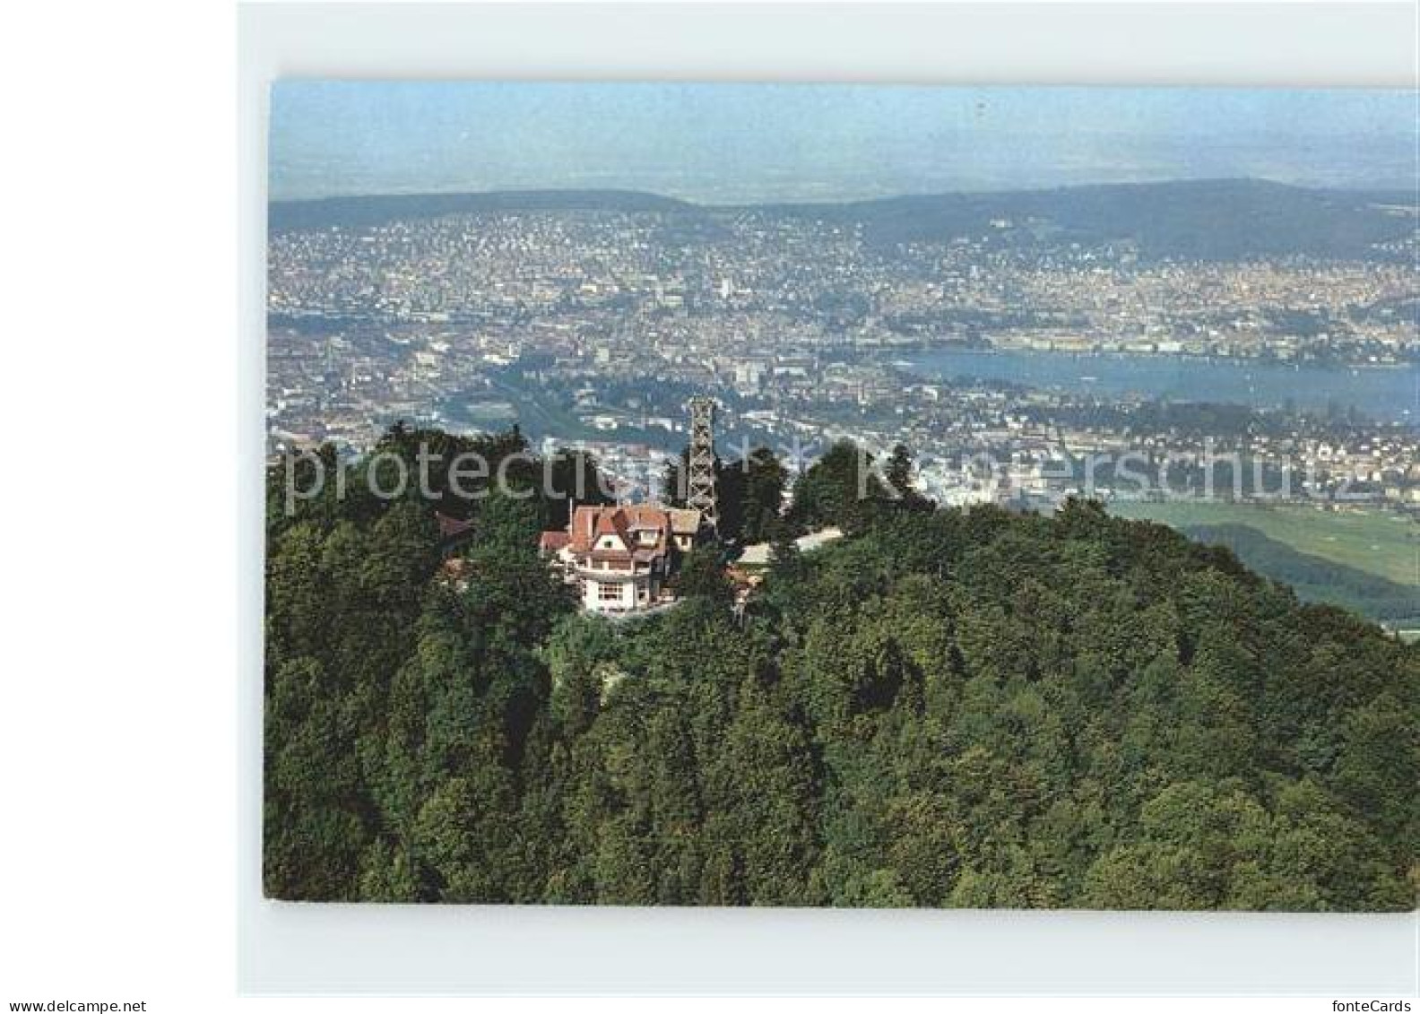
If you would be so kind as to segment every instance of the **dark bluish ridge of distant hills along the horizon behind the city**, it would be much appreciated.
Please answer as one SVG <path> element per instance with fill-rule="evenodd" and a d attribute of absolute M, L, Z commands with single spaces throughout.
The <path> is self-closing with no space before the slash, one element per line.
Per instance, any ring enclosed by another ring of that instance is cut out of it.
<path fill-rule="evenodd" d="M 1407 210 L 1409 209 L 1409 210 Z M 710 220 L 744 207 L 706 207 L 630 190 L 510 190 L 284 200 L 270 230 L 368 227 L 396 219 L 517 210 L 682 212 Z M 1411 237 L 1414 199 L 1402 193 L 1314 190 L 1252 179 L 1186 180 L 943 193 L 848 203 L 765 205 L 787 217 L 861 224 L 869 243 L 991 236 L 1021 247 L 1119 244 L 1145 260 L 1400 257 L 1377 243 Z"/>

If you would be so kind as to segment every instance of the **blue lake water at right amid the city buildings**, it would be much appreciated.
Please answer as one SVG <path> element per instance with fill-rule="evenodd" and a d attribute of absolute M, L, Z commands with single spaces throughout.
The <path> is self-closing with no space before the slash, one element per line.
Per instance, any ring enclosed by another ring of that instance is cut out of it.
<path fill-rule="evenodd" d="M 1231 402 L 1254 408 L 1356 408 L 1372 419 L 1420 425 L 1420 368 L 1287 366 L 1183 355 L 933 351 L 905 356 L 924 378 L 1010 381 L 1119 398 Z"/>

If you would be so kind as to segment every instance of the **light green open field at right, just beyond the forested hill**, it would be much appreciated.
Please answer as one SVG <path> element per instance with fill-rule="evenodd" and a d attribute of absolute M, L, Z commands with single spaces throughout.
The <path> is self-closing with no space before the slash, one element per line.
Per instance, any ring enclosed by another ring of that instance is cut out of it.
<path fill-rule="evenodd" d="M 1321 510 L 1306 506 L 1116 501 L 1119 517 L 1162 521 L 1176 528 L 1242 524 L 1298 552 L 1322 557 L 1420 588 L 1420 525 L 1397 511 L 1375 507 Z"/>

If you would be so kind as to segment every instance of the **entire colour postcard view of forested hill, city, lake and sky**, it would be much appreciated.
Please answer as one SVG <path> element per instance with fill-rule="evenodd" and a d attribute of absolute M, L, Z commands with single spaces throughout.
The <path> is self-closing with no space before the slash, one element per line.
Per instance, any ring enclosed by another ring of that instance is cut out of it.
<path fill-rule="evenodd" d="M 1417 129 L 275 84 L 267 898 L 1413 910 Z"/>

